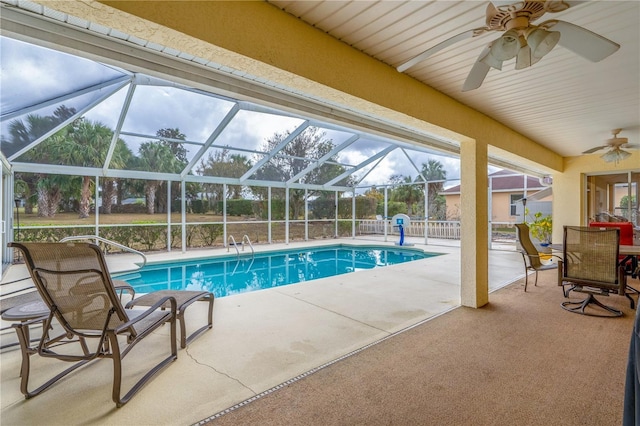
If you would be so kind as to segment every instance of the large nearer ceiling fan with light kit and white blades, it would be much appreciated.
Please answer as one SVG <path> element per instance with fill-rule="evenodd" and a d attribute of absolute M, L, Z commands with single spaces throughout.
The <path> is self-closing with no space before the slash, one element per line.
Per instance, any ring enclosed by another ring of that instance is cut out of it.
<path fill-rule="evenodd" d="M 532 24 L 547 12 L 561 12 L 580 2 L 534 0 L 496 3 L 499 5 L 489 3 L 487 6 L 486 26 L 465 31 L 438 43 L 401 64 L 397 70 L 404 72 L 442 49 L 490 31 L 503 31 L 503 34 L 480 53 L 464 82 L 463 92 L 480 87 L 490 68 L 501 70 L 502 63 L 513 58 L 516 59 L 516 69 L 530 67 L 549 53 L 556 44 L 592 62 L 601 61 L 620 48 L 617 43 L 569 22 L 554 19 L 540 25 Z"/>

